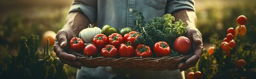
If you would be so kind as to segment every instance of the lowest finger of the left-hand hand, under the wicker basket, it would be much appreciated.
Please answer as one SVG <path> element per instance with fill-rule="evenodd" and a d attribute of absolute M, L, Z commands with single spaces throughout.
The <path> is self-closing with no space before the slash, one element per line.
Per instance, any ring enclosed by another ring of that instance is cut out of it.
<path fill-rule="evenodd" d="M 71 67 L 74 67 L 74 68 L 78 68 L 79 70 L 81 69 L 81 62 L 77 61 L 77 60 L 73 60 L 73 61 L 67 61 L 67 60 L 63 60 L 63 59 L 60 59 L 61 62 L 63 62 L 64 64 L 67 64 Z"/>

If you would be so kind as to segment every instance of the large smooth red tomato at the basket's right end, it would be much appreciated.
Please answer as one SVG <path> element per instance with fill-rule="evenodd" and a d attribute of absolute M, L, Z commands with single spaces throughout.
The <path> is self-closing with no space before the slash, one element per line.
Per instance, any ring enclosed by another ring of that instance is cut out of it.
<path fill-rule="evenodd" d="M 178 37 L 173 43 L 174 51 L 179 52 L 179 54 L 185 55 L 189 52 L 191 48 L 191 41 L 185 36 Z"/>

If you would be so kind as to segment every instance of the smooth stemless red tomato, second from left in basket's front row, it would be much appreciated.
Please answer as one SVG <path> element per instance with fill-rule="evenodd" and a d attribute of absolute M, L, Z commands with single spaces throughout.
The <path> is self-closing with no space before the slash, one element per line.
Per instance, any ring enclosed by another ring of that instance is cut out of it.
<path fill-rule="evenodd" d="M 95 45 L 89 44 L 84 48 L 84 54 L 87 56 L 96 56 L 98 49 Z"/>

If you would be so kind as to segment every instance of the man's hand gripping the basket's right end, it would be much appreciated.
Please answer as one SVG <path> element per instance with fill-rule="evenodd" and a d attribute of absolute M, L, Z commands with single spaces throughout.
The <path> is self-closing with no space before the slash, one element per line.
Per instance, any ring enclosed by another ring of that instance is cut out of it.
<path fill-rule="evenodd" d="M 187 26 L 187 38 L 191 40 L 193 55 L 185 62 L 179 63 L 179 71 L 184 71 L 195 66 L 203 54 L 203 43 L 199 30 L 194 26 Z"/>

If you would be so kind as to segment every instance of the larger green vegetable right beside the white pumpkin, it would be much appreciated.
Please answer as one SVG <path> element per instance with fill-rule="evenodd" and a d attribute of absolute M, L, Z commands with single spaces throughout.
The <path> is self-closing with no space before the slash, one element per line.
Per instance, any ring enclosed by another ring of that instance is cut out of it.
<path fill-rule="evenodd" d="M 116 30 L 116 28 L 111 27 L 110 25 L 105 25 L 101 29 L 101 34 L 105 34 L 106 36 L 109 36 L 113 33 L 117 33 L 117 30 Z"/>

